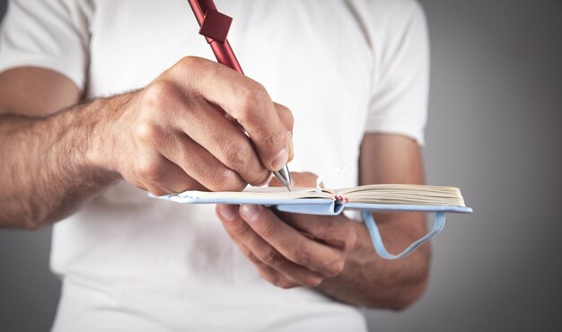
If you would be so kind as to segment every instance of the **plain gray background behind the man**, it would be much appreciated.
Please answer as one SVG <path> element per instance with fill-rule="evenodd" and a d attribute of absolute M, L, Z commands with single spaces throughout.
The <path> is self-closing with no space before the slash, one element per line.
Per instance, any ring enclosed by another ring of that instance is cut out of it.
<path fill-rule="evenodd" d="M 421 0 L 432 40 L 428 181 L 462 188 L 432 280 L 371 330 L 562 330 L 562 3 Z M 4 1 L 1 3 L 4 6 Z M 45 331 L 50 229 L 0 231 L 0 331 Z"/>

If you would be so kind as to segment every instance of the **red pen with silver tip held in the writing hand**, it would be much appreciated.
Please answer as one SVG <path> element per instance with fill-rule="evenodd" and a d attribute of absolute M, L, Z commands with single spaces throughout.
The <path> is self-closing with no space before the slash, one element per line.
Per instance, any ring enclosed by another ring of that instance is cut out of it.
<path fill-rule="evenodd" d="M 234 55 L 233 48 L 226 39 L 233 19 L 224 15 L 224 13 L 219 13 L 213 0 L 188 1 L 195 18 L 198 20 L 199 33 L 205 36 L 206 42 L 213 49 L 216 61 L 244 74 L 238 59 Z M 283 169 L 274 171 L 273 174 L 289 191 L 291 190 L 291 176 L 286 164 Z"/>

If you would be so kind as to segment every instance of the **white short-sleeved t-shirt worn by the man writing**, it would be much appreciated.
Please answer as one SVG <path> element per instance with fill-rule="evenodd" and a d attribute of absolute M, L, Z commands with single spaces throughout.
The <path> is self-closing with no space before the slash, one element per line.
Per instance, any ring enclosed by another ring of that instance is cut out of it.
<path fill-rule="evenodd" d="M 294 113 L 291 170 L 347 165 L 356 185 L 364 132 L 423 144 L 426 22 L 410 0 L 216 1 L 245 73 Z M 41 66 L 87 98 L 141 88 L 184 56 L 213 59 L 186 0 L 13 0 L 0 71 Z M 57 223 L 63 281 L 55 331 L 361 331 L 359 310 L 262 280 L 212 205 L 148 198 L 125 182 Z"/>

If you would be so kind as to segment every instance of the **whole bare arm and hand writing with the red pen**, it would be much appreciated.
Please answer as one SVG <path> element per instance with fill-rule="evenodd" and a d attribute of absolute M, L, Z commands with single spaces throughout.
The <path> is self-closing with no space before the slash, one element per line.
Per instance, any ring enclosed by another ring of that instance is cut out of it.
<path fill-rule="evenodd" d="M 121 177 L 154 195 L 241 190 L 293 156 L 291 112 L 213 61 L 183 58 L 137 92 L 79 96 L 48 69 L 0 74 L 0 226 L 54 223 Z"/>

